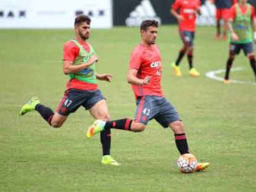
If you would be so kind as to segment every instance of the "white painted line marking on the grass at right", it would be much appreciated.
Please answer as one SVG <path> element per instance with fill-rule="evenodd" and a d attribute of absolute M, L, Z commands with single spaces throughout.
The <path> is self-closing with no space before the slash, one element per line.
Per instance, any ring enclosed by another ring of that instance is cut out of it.
<path fill-rule="evenodd" d="M 233 68 L 231 69 L 231 72 L 237 72 L 239 70 L 242 70 L 242 67 Z M 213 71 L 207 72 L 205 73 L 205 75 L 206 77 L 211 78 L 213 80 L 223 81 L 223 77 L 218 77 L 216 75 L 224 72 L 226 72 L 225 69 L 219 69 L 219 70 L 213 70 Z M 256 85 L 256 83 L 252 81 L 231 80 L 231 83 Z"/>

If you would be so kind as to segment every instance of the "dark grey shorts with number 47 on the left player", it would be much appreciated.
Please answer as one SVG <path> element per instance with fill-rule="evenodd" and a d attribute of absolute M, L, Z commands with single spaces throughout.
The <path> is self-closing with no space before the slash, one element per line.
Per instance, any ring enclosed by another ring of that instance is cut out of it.
<path fill-rule="evenodd" d="M 80 106 L 85 107 L 85 109 L 90 109 L 102 99 L 105 99 L 105 97 L 100 90 L 67 90 L 56 112 L 58 112 L 58 114 L 67 116 L 70 113 L 77 111 Z"/>

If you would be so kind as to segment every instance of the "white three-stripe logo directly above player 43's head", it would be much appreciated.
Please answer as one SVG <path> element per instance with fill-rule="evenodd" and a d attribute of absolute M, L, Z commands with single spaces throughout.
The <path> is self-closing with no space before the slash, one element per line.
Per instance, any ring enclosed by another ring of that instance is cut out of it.
<path fill-rule="evenodd" d="M 143 20 L 154 19 L 161 24 L 161 18 L 156 15 L 156 12 L 150 0 L 142 0 L 140 4 L 130 12 L 126 19 L 127 26 L 139 26 Z"/>

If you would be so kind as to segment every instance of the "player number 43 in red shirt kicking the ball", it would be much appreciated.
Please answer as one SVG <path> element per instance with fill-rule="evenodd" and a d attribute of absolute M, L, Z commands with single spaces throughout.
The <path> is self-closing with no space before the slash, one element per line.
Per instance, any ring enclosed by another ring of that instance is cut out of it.
<path fill-rule="evenodd" d="M 158 22 L 144 20 L 140 25 L 140 44 L 130 56 L 127 81 L 132 85 L 136 98 L 135 119 L 96 120 L 88 128 L 87 138 L 110 128 L 140 132 L 145 130 L 151 119 L 155 119 L 162 127 L 170 127 L 173 130 L 179 153 L 189 153 L 184 125 L 161 88 L 161 54 L 155 44 L 157 33 Z M 208 165 L 209 163 L 200 163 L 197 170 L 203 170 Z"/>

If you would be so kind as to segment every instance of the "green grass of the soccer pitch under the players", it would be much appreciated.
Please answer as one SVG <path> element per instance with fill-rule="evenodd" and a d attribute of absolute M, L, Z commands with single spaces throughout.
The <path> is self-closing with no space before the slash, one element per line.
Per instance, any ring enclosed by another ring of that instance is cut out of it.
<path fill-rule="evenodd" d="M 112 131 L 111 154 L 122 165 L 104 166 L 98 136 L 87 140 L 93 122 L 80 108 L 59 129 L 49 127 L 37 112 L 20 117 L 32 96 L 56 109 L 65 90 L 62 45 L 73 30 L 0 30 L 0 191 L 256 191 L 256 86 L 224 85 L 205 73 L 224 69 L 228 43 L 216 41 L 215 28 L 198 27 L 195 67 L 201 76 L 175 77 L 170 64 L 181 40 L 176 26 L 159 28 L 163 57 L 163 90 L 186 125 L 190 152 L 211 163 L 205 172 L 180 173 L 173 132 L 152 120 L 142 133 Z M 134 117 L 135 102 L 126 83 L 130 52 L 140 41 L 139 28 L 92 30 L 100 62 L 98 73 L 111 73 L 112 83 L 99 82 L 112 119 Z M 231 78 L 254 81 L 241 53 Z M 223 74 L 219 75 L 223 77 Z"/>

